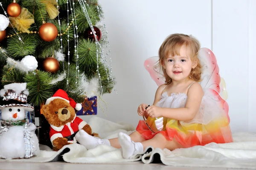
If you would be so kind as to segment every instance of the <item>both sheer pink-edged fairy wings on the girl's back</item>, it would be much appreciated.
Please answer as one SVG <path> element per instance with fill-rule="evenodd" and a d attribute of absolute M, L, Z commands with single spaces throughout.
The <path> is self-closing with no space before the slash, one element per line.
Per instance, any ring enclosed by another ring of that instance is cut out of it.
<path fill-rule="evenodd" d="M 204 92 L 210 92 L 212 99 L 218 102 L 219 106 L 225 111 L 228 121 L 230 121 L 228 104 L 220 95 L 223 94 L 225 87 L 220 84 L 221 77 L 219 75 L 219 68 L 215 55 L 210 49 L 201 48 L 198 53 L 198 58 L 203 67 L 201 75 L 202 81 L 200 84 L 204 89 Z M 144 67 L 149 72 L 151 78 L 158 86 L 160 86 L 165 83 L 165 78 L 158 64 L 158 57 L 151 57 L 145 60 Z M 226 92 L 226 90 L 224 92 Z"/>

